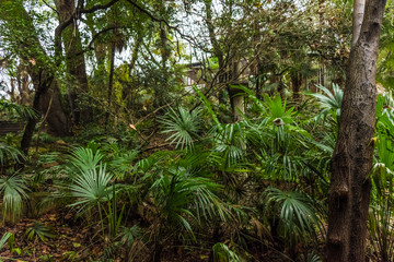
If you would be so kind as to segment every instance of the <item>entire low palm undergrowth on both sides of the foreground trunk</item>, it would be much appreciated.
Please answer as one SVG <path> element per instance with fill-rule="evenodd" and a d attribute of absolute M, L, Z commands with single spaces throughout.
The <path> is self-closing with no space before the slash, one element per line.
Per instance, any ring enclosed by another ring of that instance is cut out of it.
<path fill-rule="evenodd" d="M 343 92 L 321 86 L 321 93 L 292 104 L 279 94 L 258 99 L 237 88 L 247 109 L 235 123 L 220 121 L 198 88 L 193 99 L 201 106 L 170 107 L 155 120 L 164 148 L 141 150 L 140 127 L 118 127 L 114 135 L 99 129 L 102 133 L 69 141 L 61 152 L 39 147 L 27 158 L 16 150 L 18 138 L 2 138 L 3 222 L 37 216 L 48 205 L 70 209 L 84 226 L 99 225 L 95 238 L 104 251 L 95 259 L 101 261 L 161 261 L 174 254 L 320 261 Z M 394 239 L 392 106 L 390 93 L 379 96 L 371 140 L 369 255 L 386 261 L 393 259 Z M 38 143 L 55 140 L 42 134 Z M 32 169 L 19 169 L 21 162 Z M 10 236 L 3 236 L 3 246 Z M 50 225 L 38 221 L 25 233 L 27 241 L 54 237 Z"/>

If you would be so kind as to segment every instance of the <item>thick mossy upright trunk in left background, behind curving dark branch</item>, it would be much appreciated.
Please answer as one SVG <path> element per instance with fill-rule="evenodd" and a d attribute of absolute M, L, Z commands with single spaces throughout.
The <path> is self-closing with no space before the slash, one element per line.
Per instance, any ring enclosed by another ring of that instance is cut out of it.
<path fill-rule="evenodd" d="M 56 0 L 55 4 L 60 24 L 69 20 L 76 11 L 74 0 Z M 73 120 L 78 124 L 80 120 L 83 122 L 89 121 L 91 114 L 82 103 L 83 94 L 88 93 L 88 75 L 81 36 L 76 21 L 63 29 L 62 43 L 66 52 L 67 71 L 70 76 L 70 83 L 68 84 L 70 109 Z"/>

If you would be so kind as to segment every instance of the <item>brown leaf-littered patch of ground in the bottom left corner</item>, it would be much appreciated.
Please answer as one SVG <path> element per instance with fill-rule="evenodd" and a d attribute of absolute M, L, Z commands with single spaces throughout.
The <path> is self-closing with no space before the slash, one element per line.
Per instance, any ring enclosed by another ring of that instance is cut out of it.
<path fill-rule="evenodd" d="M 45 225 L 40 229 L 39 225 Z M 22 218 L 4 225 L 0 234 L 14 234 L 14 243 L 5 245 L 0 257 L 16 261 L 92 261 L 103 253 L 99 224 L 89 227 L 74 218 L 72 211 L 54 210 L 39 218 Z M 31 233 L 31 236 L 30 236 Z M 42 235 L 39 235 L 42 234 Z M 40 239 L 42 238 L 44 239 Z"/>

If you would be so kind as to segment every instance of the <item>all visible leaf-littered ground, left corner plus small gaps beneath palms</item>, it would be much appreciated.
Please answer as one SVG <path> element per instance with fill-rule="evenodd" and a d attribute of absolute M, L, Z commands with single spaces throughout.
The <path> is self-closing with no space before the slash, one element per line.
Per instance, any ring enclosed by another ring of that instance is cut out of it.
<path fill-rule="evenodd" d="M 45 225 L 48 231 L 39 230 L 37 224 Z M 31 230 L 32 228 L 35 230 Z M 32 237 L 28 236 L 31 231 L 35 231 Z M 39 238 L 39 231 L 42 231 L 44 240 Z M 0 236 L 4 233 L 14 234 L 14 239 L 9 240 L 9 243 L 5 243 L 0 250 L 0 261 L 103 261 L 99 258 L 103 255 L 107 246 L 102 240 L 100 224 L 92 223 L 86 226 L 80 218 L 76 218 L 76 210 L 68 207 L 51 210 L 38 218 L 22 218 L 14 224 L 5 223 L 0 227 Z M 256 261 L 289 261 L 269 251 L 258 257 Z M 167 248 L 163 251 L 162 262 L 208 260 L 209 251 L 207 250 L 187 250 L 185 252 L 185 250 Z M 125 261 L 123 253 L 112 261 Z"/>

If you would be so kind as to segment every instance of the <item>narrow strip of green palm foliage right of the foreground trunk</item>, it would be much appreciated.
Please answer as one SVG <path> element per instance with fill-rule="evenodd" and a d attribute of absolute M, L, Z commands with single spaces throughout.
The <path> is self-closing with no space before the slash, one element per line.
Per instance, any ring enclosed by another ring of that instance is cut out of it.
<path fill-rule="evenodd" d="M 371 246 L 382 261 L 394 259 L 394 115 L 386 95 L 378 97 L 376 138 L 372 180 L 369 231 Z M 371 142 L 373 141 L 371 140 Z M 373 141 L 374 142 L 374 141 Z"/>

